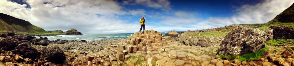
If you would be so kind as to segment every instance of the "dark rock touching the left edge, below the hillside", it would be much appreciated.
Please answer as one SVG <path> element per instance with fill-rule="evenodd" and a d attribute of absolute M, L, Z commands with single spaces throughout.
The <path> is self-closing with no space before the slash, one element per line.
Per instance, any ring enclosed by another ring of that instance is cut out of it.
<path fill-rule="evenodd" d="M 0 49 L 11 51 L 20 44 L 20 41 L 14 38 L 5 38 L 0 41 Z"/>

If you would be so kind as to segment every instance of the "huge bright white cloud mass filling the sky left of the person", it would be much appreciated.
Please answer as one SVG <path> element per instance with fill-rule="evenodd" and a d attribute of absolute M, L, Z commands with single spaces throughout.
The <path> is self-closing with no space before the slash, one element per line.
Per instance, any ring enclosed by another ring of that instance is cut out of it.
<path fill-rule="evenodd" d="M 1 0 L 0 12 L 24 19 L 47 31 L 76 28 L 83 33 L 129 33 L 140 25 L 117 19 L 119 15 L 143 14 L 143 9 L 124 10 L 111 0 L 27 0 L 31 8 Z M 125 28 L 121 28 L 125 27 Z"/>

